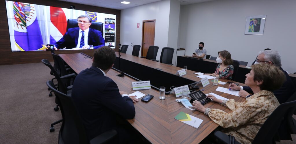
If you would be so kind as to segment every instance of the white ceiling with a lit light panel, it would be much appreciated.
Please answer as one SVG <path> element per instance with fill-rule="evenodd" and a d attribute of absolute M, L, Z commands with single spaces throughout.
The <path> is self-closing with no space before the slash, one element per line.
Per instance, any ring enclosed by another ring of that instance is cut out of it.
<path fill-rule="evenodd" d="M 59 0 L 59 1 L 67 1 L 77 4 L 86 4 L 96 7 L 105 7 L 110 9 L 128 9 L 131 7 L 140 6 L 143 4 L 149 4 L 156 1 L 161 0 Z M 130 2 L 130 4 L 121 4 L 120 2 L 127 1 Z M 196 4 L 206 1 L 214 1 L 214 0 L 176 0 L 180 1 L 181 5 L 187 5 L 187 4 Z"/>

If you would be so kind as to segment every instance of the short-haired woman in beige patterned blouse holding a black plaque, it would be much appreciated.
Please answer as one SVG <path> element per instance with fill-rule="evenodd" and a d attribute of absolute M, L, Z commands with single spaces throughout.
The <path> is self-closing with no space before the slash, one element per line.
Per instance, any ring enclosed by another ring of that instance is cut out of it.
<path fill-rule="evenodd" d="M 207 96 L 233 112 L 228 114 L 220 109 L 205 108 L 198 101 L 192 104 L 195 109 L 205 113 L 212 121 L 223 127 L 223 132 L 234 136 L 240 143 L 252 143 L 262 124 L 279 106 L 279 101 L 271 91 L 280 88 L 286 80 L 284 73 L 270 64 L 252 65 L 252 70 L 246 76 L 244 83 L 254 92 L 254 95 L 246 98 L 246 101 L 235 102 L 233 99 L 226 101 L 217 99 L 213 95 Z"/>

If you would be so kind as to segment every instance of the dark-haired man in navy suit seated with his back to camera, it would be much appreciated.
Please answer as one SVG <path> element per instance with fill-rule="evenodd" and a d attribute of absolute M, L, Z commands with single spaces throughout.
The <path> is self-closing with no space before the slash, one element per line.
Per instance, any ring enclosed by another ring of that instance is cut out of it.
<path fill-rule="evenodd" d="M 72 98 L 89 139 L 114 129 L 118 132 L 116 140 L 121 143 L 128 137 L 119 123 L 135 117 L 133 103 L 138 100 L 136 96 L 129 97 L 126 92 L 119 91 L 116 83 L 106 76 L 114 61 L 115 51 L 112 48 L 103 46 L 96 49 L 92 66 L 81 71 L 74 80 Z"/>

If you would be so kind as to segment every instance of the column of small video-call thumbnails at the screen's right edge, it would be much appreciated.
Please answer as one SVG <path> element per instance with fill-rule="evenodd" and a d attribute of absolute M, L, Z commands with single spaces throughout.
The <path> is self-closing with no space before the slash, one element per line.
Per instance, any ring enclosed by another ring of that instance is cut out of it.
<path fill-rule="evenodd" d="M 105 18 L 105 46 L 115 48 L 115 19 Z"/>

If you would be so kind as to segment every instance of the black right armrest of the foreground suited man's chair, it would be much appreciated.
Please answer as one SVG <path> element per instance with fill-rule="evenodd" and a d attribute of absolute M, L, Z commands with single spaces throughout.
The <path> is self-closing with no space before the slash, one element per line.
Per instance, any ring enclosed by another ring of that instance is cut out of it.
<path fill-rule="evenodd" d="M 116 130 L 104 132 L 89 141 L 90 144 L 106 143 L 117 135 Z"/>

